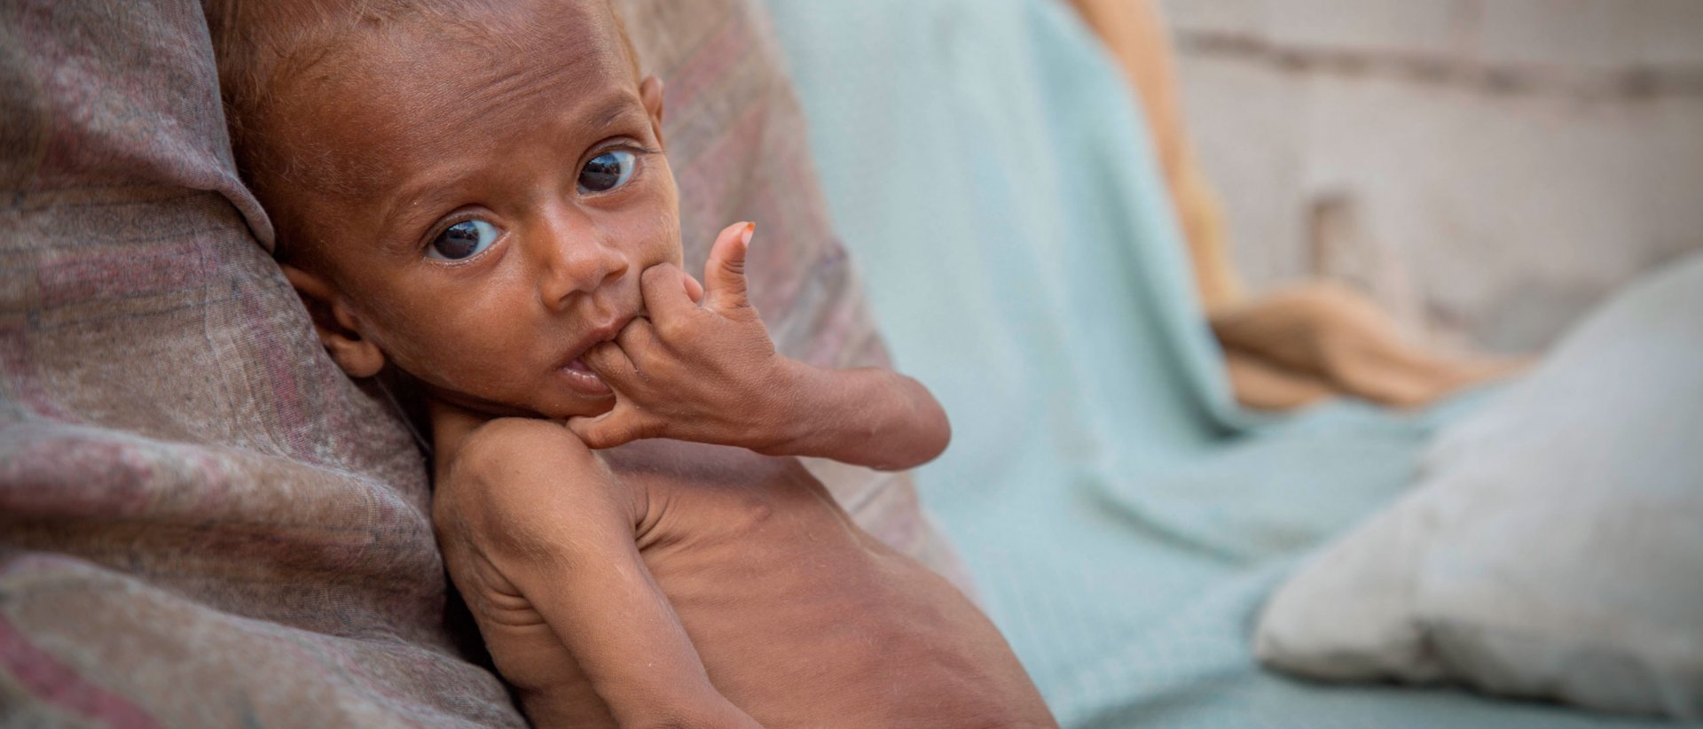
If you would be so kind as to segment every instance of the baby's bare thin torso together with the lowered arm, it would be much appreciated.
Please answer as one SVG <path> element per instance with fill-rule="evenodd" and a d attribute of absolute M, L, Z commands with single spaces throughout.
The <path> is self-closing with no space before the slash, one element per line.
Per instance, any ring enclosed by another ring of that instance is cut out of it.
<path fill-rule="evenodd" d="M 1052 726 L 988 619 L 795 459 L 511 418 L 453 461 L 439 544 L 538 726 Z"/>

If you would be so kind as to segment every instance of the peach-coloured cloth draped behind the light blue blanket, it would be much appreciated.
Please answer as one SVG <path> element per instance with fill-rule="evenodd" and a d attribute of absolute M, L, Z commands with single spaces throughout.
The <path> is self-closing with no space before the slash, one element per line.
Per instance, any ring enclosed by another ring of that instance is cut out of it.
<path fill-rule="evenodd" d="M 1122 68 L 1148 121 L 1196 291 L 1224 348 L 1241 404 L 1286 410 L 1330 396 L 1420 406 L 1514 365 L 1446 357 L 1403 340 L 1400 325 L 1345 285 L 1308 282 L 1248 299 L 1230 258 L 1218 195 L 1189 146 L 1177 70 L 1151 0 L 1071 0 Z"/>

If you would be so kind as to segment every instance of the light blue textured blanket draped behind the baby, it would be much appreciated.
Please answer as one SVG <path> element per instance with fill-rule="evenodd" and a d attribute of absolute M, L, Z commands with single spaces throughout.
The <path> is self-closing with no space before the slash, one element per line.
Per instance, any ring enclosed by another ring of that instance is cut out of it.
<path fill-rule="evenodd" d="M 1236 410 L 1143 121 L 1063 3 L 768 5 L 897 365 L 952 415 L 923 496 L 1066 726 L 1638 724 L 1260 670 L 1274 583 L 1471 398 Z"/>

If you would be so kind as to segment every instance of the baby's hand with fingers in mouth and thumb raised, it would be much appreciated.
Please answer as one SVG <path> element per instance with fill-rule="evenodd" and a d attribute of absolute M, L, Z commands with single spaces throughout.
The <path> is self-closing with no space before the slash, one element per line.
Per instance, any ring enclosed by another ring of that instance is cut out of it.
<path fill-rule="evenodd" d="M 674 438 L 763 450 L 783 438 L 794 362 L 775 352 L 746 297 L 754 228 L 722 229 L 703 265 L 703 285 L 669 263 L 642 274 L 649 319 L 634 319 L 584 355 L 615 389 L 608 413 L 569 418 L 569 430 L 586 445 Z"/>

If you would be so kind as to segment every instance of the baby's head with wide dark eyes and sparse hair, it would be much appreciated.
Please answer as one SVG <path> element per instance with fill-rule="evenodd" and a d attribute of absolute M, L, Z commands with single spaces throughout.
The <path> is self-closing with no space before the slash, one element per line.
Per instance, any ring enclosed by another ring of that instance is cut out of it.
<path fill-rule="evenodd" d="M 208 3 L 238 168 L 332 359 L 487 413 L 606 411 L 577 355 L 681 255 L 662 87 L 608 0 Z"/>

